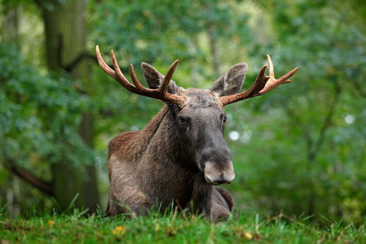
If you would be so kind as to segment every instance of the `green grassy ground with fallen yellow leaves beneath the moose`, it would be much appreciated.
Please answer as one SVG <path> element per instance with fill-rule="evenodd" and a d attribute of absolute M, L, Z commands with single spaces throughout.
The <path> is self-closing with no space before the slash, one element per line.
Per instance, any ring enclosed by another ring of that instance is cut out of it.
<path fill-rule="evenodd" d="M 263 218 L 240 214 L 228 222 L 212 224 L 171 211 L 145 217 L 101 214 L 24 214 L 9 218 L 0 213 L 0 244 L 8 243 L 366 243 L 365 225 L 335 223 L 323 218 L 309 223 L 282 214 Z"/>

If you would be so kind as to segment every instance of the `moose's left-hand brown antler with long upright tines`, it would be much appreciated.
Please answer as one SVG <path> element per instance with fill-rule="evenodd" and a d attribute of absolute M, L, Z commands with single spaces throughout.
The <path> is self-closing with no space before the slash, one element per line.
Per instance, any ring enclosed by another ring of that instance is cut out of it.
<path fill-rule="evenodd" d="M 172 64 L 172 66 L 169 68 L 168 72 L 164 76 L 161 86 L 157 89 L 149 89 L 149 88 L 146 88 L 141 85 L 141 83 L 139 82 L 139 80 L 136 77 L 134 67 L 132 64 L 130 64 L 130 75 L 131 75 L 131 79 L 132 79 L 134 85 L 132 85 L 126 79 L 126 77 L 124 77 L 124 75 L 120 69 L 120 66 L 117 63 L 116 57 L 114 56 L 113 50 L 111 50 L 111 56 L 112 56 L 114 70 L 112 70 L 103 60 L 101 52 L 99 51 L 98 45 L 95 47 L 95 50 L 97 51 L 99 66 L 102 68 L 102 70 L 104 70 L 107 74 L 109 74 L 109 76 L 111 76 L 113 79 L 115 79 L 118 83 L 120 83 L 122 85 L 122 87 L 126 88 L 130 92 L 133 92 L 135 94 L 139 94 L 142 96 L 146 96 L 146 97 L 156 98 L 156 99 L 162 100 L 164 102 L 173 103 L 178 106 L 182 106 L 186 102 L 185 97 L 170 94 L 167 92 L 169 82 L 171 81 L 174 70 L 175 70 L 176 66 L 178 65 L 178 61 L 179 61 L 178 59 L 175 60 L 174 63 Z"/>

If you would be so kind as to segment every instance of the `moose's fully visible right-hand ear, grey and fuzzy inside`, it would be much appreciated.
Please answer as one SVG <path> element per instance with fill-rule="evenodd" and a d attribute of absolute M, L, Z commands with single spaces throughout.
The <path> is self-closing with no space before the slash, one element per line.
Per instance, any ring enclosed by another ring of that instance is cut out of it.
<path fill-rule="evenodd" d="M 248 65 L 240 63 L 232 66 L 209 88 L 216 96 L 237 94 L 242 89 Z"/>

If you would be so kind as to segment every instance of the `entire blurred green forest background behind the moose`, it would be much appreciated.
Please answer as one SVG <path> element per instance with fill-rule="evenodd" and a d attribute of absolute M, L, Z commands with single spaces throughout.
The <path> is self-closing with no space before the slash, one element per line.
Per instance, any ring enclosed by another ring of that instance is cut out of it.
<path fill-rule="evenodd" d="M 107 143 L 140 130 L 163 103 L 100 69 L 95 45 L 122 72 L 140 62 L 209 88 L 270 54 L 264 96 L 226 107 L 238 208 L 362 220 L 366 215 L 366 3 L 363 0 L 1 0 L 0 205 L 9 214 L 105 209 Z M 146 86 L 146 83 L 145 83 Z M 54 199 L 54 200 L 52 200 Z M 57 204 L 55 204 L 57 202 Z"/>

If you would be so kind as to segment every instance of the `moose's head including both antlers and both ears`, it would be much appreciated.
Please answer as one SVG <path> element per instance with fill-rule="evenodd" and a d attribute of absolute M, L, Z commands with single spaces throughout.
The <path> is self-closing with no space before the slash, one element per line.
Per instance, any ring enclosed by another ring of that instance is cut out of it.
<path fill-rule="evenodd" d="M 166 75 L 159 73 L 147 63 L 141 69 L 149 88 L 143 87 L 136 77 L 132 64 L 130 74 L 132 85 L 122 74 L 113 50 L 111 51 L 114 70 L 103 60 L 96 46 L 97 57 L 101 68 L 127 90 L 164 101 L 174 116 L 177 128 L 177 139 L 181 153 L 190 157 L 196 168 L 203 173 L 209 184 L 230 183 L 234 177 L 232 152 L 224 139 L 225 121 L 224 106 L 244 99 L 260 96 L 283 83 L 290 83 L 289 78 L 298 68 L 291 70 L 279 79 L 275 79 L 272 61 L 267 55 L 269 76 L 265 75 L 266 65 L 259 71 L 254 84 L 246 91 L 239 93 L 247 71 L 246 63 L 232 66 L 215 81 L 209 89 L 184 89 L 172 81 L 173 72 L 178 64 L 176 60 Z"/>

